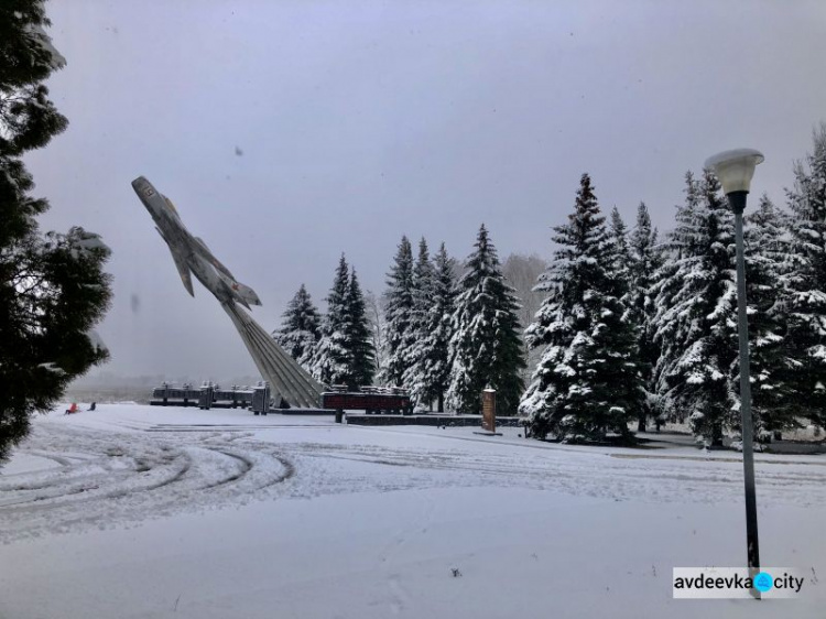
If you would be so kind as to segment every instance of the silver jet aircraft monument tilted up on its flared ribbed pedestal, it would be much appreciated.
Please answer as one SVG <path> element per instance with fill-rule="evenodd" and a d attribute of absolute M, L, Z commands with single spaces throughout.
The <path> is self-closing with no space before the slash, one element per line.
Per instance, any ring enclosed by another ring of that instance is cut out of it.
<path fill-rule="evenodd" d="M 238 307 L 239 303 L 248 310 L 250 305 L 261 305 L 256 292 L 236 280 L 229 269 L 213 256 L 206 243 L 189 234 L 172 202 L 155 189 L 152 183 L 139 176 L 132 181 L 132 188 L 169 246 L 184 287 L 195 296 L 191 275 L 194 273 L 204 287 L 215 295 L 241 335 L 261 376 L 269 381 L 275 402 L 283 398 L 291 405 L 318 408 L 322 385 L 261 325 Z"/>

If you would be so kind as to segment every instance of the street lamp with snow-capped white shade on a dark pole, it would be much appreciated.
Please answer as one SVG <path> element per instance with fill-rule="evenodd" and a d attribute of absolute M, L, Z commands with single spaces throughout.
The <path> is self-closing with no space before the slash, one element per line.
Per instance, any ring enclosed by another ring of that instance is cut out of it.
<path fill-rule="evenodd" d="M 737 243 L 737 317 L 740 335 L 740 413 L 742 415 L 742 466 L 746 478 L 746 540 L 748 544 L 749 575 L 760 572 L 758 543 L 757 496 L 754 493 L 754 436 L 751 417 L 751 382 L 749 374 L 749 322 L 746 314 L 746 259 L 743 258 L 742 211 L 749 195 L 754 167 L 763 155 L 753 149 L 737 149 L 716 154 L 706 160 L 719 178 L 724 193 L 735 211 Z"/>

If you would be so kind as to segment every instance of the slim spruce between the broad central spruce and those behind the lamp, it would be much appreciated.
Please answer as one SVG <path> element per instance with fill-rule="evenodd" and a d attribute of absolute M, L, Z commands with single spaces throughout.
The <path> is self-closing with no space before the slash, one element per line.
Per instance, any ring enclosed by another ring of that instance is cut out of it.
<path fill-rule="evenodd" d="M 644 203 L 637 208 L 637 224 L 631 232 L 631 260 L 629 268 L 630 287 L 626 297 L 629 308 L 629 321 L 638 325 L 637 348 L 643 384 L 645 388 L 646 405 L 638 416 L 637 430 L 644 432 L 648 416 L 657 413 L 653 405 L 656 394 L 654 368 L 660 360 L 660 346 L 654 343 L 654 314 L 656 306 L 651 295 L 651 286 L 655 282 L 656 273 L 663 265 L 662 250 L 657 246 L 656 228 L 651 227 L 651 217 Z"/>

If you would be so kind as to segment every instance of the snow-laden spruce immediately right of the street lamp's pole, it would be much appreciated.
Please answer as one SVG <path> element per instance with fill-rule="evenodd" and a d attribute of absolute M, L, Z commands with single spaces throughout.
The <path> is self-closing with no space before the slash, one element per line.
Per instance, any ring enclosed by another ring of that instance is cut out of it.
<path fill-rule="evenodd" d="M 769 196 L 746 216 L 746 298 L 749 304 L 749 363 L 751 367 L 752 414 L 758 436 L 798 426 L 795 414 L 800 398 L 786 355 L 784 282 L 789 238 L 785 217 Z M 731 381 L 739 393 L 739 357 Z"/>

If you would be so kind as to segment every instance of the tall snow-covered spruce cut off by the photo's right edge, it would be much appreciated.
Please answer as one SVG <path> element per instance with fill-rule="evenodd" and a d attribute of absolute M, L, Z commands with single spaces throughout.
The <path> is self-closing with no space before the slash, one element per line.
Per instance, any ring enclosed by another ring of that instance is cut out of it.
<path fill-rule="evenodd" d="M 791 245 L 785 278 L 784 347 L 800 413 L 826 427 L 826 124 L 794 166 L 789 189 Z"/>

